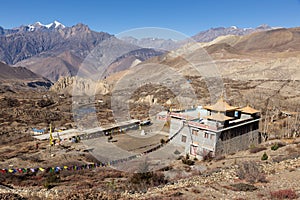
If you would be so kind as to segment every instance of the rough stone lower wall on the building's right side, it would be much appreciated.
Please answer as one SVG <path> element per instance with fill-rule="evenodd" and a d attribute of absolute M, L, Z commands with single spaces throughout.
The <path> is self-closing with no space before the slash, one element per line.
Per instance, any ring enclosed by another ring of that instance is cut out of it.
<path fill-rule="evenodd" d="M 230 154 L 246 150 L 251 145 L 258 145 L 260 141 L 260 133 L 258 130 L 254 130 L 225 141 L 219 140 L 216 145 L 216 155 Z"/>

